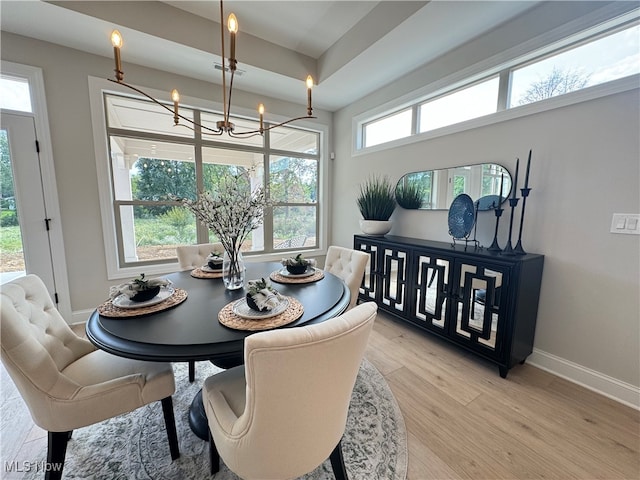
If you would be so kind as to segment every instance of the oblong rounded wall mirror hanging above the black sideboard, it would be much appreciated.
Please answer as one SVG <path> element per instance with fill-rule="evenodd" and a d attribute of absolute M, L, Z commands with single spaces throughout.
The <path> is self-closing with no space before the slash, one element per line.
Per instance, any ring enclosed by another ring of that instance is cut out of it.
<path fill-rule="evenodd" d="M 511 175 L 502 165 L 482 163 L 426 170 L 404 175 L 396 185 L 396 200 L 403 208 L 448 210 L 461 193 L 471 197 L 478 210 L 493 210 L 500 197 L 511 192 Z"/>

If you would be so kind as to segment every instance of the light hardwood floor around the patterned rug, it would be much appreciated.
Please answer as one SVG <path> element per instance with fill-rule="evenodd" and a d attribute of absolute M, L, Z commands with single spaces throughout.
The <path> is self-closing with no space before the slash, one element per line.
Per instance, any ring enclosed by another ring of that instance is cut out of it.
<path fill-rule="evenodd" d="M 502 379 L 497 367 L 384 313 L 366 356 L 403 412 L 408 480 L 640 478 L 637 410 L 526 364 Z M 16 406 L 4 368 L 1 380 L 3 410 L 19 412 L 2 415 L 2 460 L 33 458 L 45 432 Z"/>

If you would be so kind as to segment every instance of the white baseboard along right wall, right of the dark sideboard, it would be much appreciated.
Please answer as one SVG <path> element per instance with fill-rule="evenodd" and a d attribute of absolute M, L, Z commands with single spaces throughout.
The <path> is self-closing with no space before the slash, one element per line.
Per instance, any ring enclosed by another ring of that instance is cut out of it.
<path fill-rule="evenodd" d="M 527 363 L 640 410 L 640 388 L 536 348 Z"/>

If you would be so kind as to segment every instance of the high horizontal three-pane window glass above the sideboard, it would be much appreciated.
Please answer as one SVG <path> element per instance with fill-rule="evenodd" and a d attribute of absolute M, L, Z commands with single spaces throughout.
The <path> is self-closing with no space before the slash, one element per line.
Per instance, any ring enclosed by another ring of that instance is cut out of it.
<path fill-rule="evenodd" d="M 638 75 L 637 17 L 637 12 L 625 15 L 596 27 L 595 33 L 582 32 L 574 39 L 563 40 L 562 46 L 546 46 L 544 52 L 528 54 L 526 60 L 510 60 L 486 73 L 478 72 L 473 78 L 456 80 L 454 87 L 423 95 L 410 107 L 356 119 L 356 150 Z M 633 24 L 629 23 L 630 18 Z M 622 24 L 624 21 L 627 23 Z M 587 38 L 577 43 L 578 37 Z M 403 103 L 406 105 L 406 100 Z"/>

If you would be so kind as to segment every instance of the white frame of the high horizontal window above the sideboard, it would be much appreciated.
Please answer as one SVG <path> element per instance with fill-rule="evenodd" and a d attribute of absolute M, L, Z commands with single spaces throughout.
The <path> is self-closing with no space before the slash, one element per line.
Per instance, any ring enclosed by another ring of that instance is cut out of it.
<path fill-rule="evenodd" d="M 605 8 L 602 9 L 601 12 L 594 14 L 596 18 L 591 18 L 591 21 L 595 22 L 595 26 L 587 25 L 589 19 L 579 19 L 576 21 L 578 24 L 577 28 L 569 33 L 566 31 L 560 31 L 544 35 L 543 38 L 537 39 L 537 42 L 530 42 L 537 43 L 535 46 L 529 44 L 525 46 L 518 45 L 506 50 L 500 55 L 496 55 L 466 69 L 454 72 L 438 81 L 432 82 L 429 85 L 425 85 L 424 87 L 410 92 L 399 99 L 389 101 L 384 105 L 354 116 L 352 119 L 354 132 L 352 138 L 352 155 L 359 156 L 376 151 L 396 148 L 402 145 L 491 125 L 505 120 L 511 120 L 638 88 L 640 74 L 634 74 L 525 105 L 508 105 L 510 101 L 509 97 L 512 71 L 526 65 L 534 64 L 564 51 L 569 51 L 579 46 L 595 42 L 605 36 L 615 34 L 627 28 L 640 25 L 640 9 L 617 13 L 617 15 L 615 14 L 615 10 L 612 11 L 614 13 L 609 13 L 609 10 Z M 604 16 L 605 18 L 600 18 L 599 16 Z M 557 38 L 553 38 L 554 36 Z M 528 51 L 523 51 L 524 49 L 528 49 Z M 394 114 L 405 111 L 408 108 L 413 109 L 413 118 L 419 119 L 419 110 L 421 105 L 447 95 L 455 94 L 457 91 L 482 83 L 495 76 L 499 77 L 499 87 L 498 104 L 494 113 L 424 132 L 419 132 L 417 130 L 418 126 L 414 124 L 414 129 L 409 136 L 389 142 L 379 143 L 370 147 L 365 146 L 364 129 L 366 125 L 375 123 L 380 119 L 393 116 Z"/>

